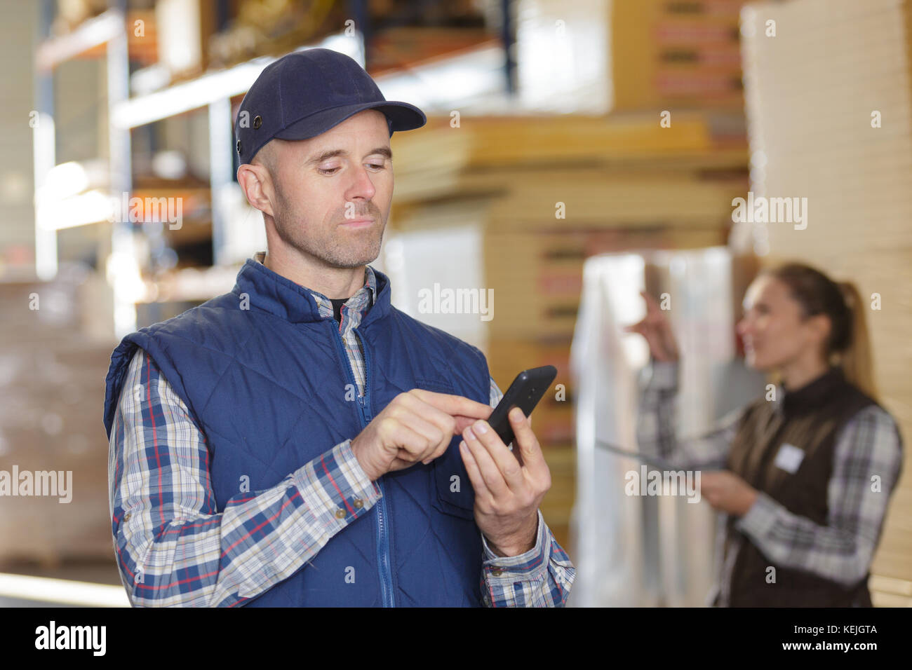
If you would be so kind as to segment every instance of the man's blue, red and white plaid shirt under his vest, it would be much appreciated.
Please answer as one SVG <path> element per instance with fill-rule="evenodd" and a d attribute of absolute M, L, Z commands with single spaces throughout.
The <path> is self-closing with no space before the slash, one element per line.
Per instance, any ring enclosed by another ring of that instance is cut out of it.
<path fill-rule="evenodd" d="M 254 259 L 263 263 L 264 255 Z M 376 297 L 369 265 L 365 279 L 343 305 L 339 324 L 360 396 L 364 360 L 354 330 Z M 311 294 L 320 314 L 332 318 L 332 302 Z M 239 495 L 216 512 L 206 440 L 142 349 L 130 361 L 123 388 L 111 428 L 109 502 L 120 578 L 134 606 L 243 604 L 294 574 L 379 500 L 347 439 L 275 487 Z M 492 407 L 501 397 L 492 378 Z M 363 507 L 339 519 L 337 509 L 353 499 Z M 541 510 L 532 550 L 497 556 L 483 533 L 482 547 L 485 606 L 565 605 L 575 567 Z"/>

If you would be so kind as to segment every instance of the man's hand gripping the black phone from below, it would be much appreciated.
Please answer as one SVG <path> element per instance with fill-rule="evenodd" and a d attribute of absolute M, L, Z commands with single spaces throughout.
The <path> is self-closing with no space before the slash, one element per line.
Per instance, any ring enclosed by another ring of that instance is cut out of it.
<path fill-rule="evenodd" d="M 460 452 L 475 490 L 475 522 L 492 551 L 517 556 L 535 546 L 551 470 L 523 410 L 513 407 L 509 418 L 513 451 L 482 419 L 462 431 Z"/>

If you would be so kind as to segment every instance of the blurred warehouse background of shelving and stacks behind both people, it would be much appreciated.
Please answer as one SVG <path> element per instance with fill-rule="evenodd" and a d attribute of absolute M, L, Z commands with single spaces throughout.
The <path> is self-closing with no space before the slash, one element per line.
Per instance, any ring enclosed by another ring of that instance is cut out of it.
<path fill-rule="evenodd" d="M 233 119 L 295 49 L 347 53 L 429 117 L 391 139 L 373 265 L 393 303 L 480 346 L 504 390 L 558 369 L 534 428 L 544 518 L 579 569 L 570 604 L 700 605 L 714 574 L 709 506 L 624 496 L 634 465 L 595 444 L 636 448 L 648 348 L 620 327 L 641 288 L 674 296 L 682 433 L 762 393 L 734 324 L 758 268 L 798 259 L 878 294 L 876 378 L 912 434 L 907 2 L 0 0 L 0 15 L 0 470 L 73 472 L 69 504 L 0 498 L 0 604 L 127 604 L 109 358 L 266 249 Z M 806 197 L 806 228 L 733 223 L 748 191 Z M 492 289 L 493 318 L 421 313 L 434 283 Z M 910 512 L 904 474 L 877 605 L 912 604 Z"/>

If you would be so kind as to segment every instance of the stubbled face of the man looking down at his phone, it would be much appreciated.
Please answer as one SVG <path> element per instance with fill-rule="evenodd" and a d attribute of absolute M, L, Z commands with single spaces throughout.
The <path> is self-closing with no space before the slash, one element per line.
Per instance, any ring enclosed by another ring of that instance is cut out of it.
<path fill-rule="evenodd" d="M 383 113 L 366 109 L 316 138 L 270 145 L 273 220 L 282 243 L 330 267 L 374 261 L 393 193 Z"/>

